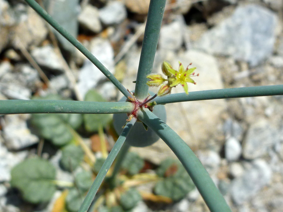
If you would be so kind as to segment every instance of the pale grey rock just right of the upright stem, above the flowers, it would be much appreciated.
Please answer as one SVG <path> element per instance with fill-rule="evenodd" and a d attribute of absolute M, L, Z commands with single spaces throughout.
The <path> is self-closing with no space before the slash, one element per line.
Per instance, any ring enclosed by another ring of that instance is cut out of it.
<path fill-rule="evenodd" d="M 163 25 L 160 30 L 159 48 L 177 51 L 183 44 L 182 29 L 184 26 L 180 18 L 170 24 Z"/>

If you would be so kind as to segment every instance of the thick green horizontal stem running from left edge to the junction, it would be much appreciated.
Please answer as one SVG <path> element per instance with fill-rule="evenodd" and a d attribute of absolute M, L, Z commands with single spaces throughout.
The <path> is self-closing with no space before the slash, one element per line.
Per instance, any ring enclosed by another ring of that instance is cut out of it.
<path fill-rule="evenodd" d="M 89 102 L 65 100 L 0 100 L 0 114 L 19 113 L 127 113 L 130 102 Z"/>

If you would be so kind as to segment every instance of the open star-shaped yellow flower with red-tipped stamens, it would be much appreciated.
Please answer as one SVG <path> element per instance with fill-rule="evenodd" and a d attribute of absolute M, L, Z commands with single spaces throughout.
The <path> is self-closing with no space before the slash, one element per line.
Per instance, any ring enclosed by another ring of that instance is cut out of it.
<path fill-rule="evenodd" d="M 189 69 L 187 67 L 185 70 L 182 63 L 179 62 L 179 64 L 180 64 L 179 71 L 178 72 L 176 71 L 174 78 L 168 79 L 169 85 L 170 87 L 176 87 L 178 84 L 181 84 L 184 87 L 186 94 L 189 94 L 187 83 L 189 82 L 189 83 L 196 84 L 196 82 L 193 79 L 191 79 L 191 76 L 195 74 L 193 72 L 196 68 Z M 196 76 L 198 76 L 198 74 Z"/>

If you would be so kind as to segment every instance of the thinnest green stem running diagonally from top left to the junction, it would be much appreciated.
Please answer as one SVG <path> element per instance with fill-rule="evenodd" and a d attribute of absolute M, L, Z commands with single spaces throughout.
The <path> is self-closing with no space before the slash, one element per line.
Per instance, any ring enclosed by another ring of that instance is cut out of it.
<path fill-rule="evenodd" d="M 25 0 L 43 19 L 45 19 L 55 30 L 64 36 L 81 53 L 83 53 L 121 92 L 125 97 L 132 96 L 130 92 L 114 77 L 114 75 L 92 55 L 78 40 L 55 21 L 35 0 Z"/>

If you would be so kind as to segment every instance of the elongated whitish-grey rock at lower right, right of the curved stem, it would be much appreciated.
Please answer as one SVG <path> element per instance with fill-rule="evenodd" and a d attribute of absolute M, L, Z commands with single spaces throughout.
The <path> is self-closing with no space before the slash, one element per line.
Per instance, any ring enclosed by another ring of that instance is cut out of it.
<path fill-rule="evenodd" d="M 243 204 L 252 196 L 256 195 L 265 185 L 269 184 L 272 172 L 264 160 L 255 160 L 243 176 L 232 181 L 231 195 L 237 204 Z"/>

